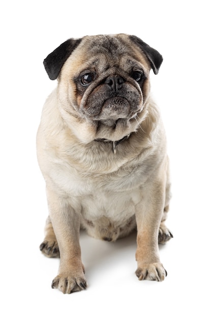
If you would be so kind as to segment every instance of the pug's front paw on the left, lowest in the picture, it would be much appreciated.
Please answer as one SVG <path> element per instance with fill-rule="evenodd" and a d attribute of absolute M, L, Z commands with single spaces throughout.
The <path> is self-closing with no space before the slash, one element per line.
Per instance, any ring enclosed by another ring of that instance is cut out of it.
<path fill-rule="evenodd" d="M 71 294 L 75 291 L 86 289 L 87 283 L 84 276 L 72 277 L 58 275 L 53 279 L 51 287 L 58 288 L 63 294 Z"/>

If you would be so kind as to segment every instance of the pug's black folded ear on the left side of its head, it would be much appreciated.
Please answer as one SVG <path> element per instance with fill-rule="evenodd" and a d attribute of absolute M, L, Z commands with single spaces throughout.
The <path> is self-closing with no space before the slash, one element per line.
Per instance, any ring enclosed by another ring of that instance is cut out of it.
<path fill-rule="evenodd" d="M 44 67 L 50 79 L 57 78 L 60 69 L 71 55 L 72 51 L 79 45 L 81 39 L 69 39 L 60 44 L 53 52 L 51 52 L 43 61 Z"/>

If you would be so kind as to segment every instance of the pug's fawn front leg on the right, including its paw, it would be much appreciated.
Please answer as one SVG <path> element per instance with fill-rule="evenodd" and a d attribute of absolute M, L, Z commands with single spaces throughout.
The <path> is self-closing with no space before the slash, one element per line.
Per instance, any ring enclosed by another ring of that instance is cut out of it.
<path fill-rule="evenodd" d="M 142 201 L 136 213 L 139 280 L 162 281 L 167 272 L 160 262 L 158 232 L 165 203 L 165 185 L 163 181 L 154 182 L 150 187 L 142 189 Z"/>

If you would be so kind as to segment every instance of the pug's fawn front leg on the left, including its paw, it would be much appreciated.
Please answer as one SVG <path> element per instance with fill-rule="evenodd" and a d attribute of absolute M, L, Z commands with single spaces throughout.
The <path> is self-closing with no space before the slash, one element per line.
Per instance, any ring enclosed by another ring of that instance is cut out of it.
<path fill-rule="evenodd" d="M 59 246 L 60 265 L 52 288 L 70 294 L 86 288 L 79 245 L 80 217 L 69 201 L 47 188 L 49 216 Z"/>

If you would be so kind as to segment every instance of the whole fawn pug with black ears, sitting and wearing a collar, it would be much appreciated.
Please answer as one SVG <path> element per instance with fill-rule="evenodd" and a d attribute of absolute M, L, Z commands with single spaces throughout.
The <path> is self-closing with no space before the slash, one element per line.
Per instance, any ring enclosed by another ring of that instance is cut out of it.
<path fill-rule="evenodd" d="M 71 38 L 44 60 L 57 87 L 37 134 L 49 217 L 40 250 L 60 257 L 52 288 L 86 288 L 80 228 L 112 242 L 137 230 L 136 275 L 167 275 L 159 245 L 170 200 L 166 136 L 150 96 L 149 71 L 162 56 L 134 35 Z"/>

